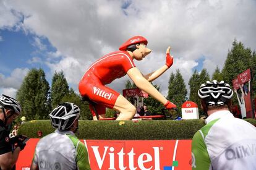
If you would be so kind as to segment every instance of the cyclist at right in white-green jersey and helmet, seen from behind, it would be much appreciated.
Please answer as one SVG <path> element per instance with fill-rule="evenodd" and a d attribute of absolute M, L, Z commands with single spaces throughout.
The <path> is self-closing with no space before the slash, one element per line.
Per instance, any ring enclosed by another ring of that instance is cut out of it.
<path fill-rule="evenodd" d="M 192 169 L 256 169 L 256 128 L 229 111 L 229 84 L 207 81 L 198 96 L 208 117 L 192 140 Z"/>

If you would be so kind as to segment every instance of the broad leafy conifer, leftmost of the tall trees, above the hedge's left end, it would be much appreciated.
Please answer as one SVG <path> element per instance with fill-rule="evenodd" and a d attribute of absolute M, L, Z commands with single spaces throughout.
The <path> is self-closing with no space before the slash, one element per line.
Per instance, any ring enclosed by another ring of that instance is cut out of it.
<path fill-rule="evenodd" d="M 49 83 L 43 69 L 31 69 L 17 91 L 22 105 L 22 115 L 27 120 L 46 119 L 49 114 Z"/>

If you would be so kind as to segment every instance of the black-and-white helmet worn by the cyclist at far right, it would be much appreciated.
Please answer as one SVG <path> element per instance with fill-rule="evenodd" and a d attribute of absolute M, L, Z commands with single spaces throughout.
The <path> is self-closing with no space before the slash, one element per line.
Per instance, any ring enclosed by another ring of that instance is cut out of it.
<path fill-rule="evenodd" d="M 203 83 L 198 90 L 198 96 L 205 101 L 208 106 L 222 106 L 227 104 L 233 96 L 233 90 L 228 83 L 222 80 L 213 80 Z"/>

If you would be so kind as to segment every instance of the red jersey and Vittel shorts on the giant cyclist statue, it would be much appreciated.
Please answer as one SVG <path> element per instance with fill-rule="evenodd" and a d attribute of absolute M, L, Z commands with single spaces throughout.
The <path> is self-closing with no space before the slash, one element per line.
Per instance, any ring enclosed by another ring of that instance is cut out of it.
<path fill-rule="evenodd" d="M 105 85 L 124 77 L 132 67 L 135 67 L 134 61 L 127 51 L 106 54 L 94 62 L 83 75 L 79 82 L 80 95 L 96 103 L 94 107 L 97 114 L 105 114 L 106 107 L 112 109 L 120 95 Z M 93 116 L 96 116 L 92 104 L 89 106 Z"/>

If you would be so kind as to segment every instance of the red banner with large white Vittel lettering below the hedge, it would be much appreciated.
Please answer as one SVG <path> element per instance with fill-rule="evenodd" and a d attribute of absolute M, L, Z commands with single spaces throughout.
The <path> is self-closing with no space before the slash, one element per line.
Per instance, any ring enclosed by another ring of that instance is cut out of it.
<path fill-rule="evenodd" d="M 38 138 L 20 152 L 16 169 L 29 169 Z M 191 140 L 81 140 L 88 150 L 91 169 L 191 168 Z"/>

